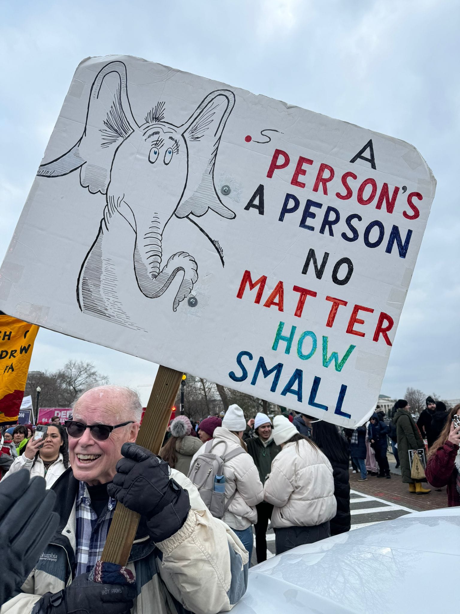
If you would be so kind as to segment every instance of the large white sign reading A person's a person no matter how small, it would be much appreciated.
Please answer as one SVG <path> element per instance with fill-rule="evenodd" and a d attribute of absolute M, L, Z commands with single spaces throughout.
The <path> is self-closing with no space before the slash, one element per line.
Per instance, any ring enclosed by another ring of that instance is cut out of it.
<path fill-rule="evenodd" d="M 0 308 L 352 427 L 377 402 L 434 190 L 403 141 L 92 58 L 2 265 Z"/>

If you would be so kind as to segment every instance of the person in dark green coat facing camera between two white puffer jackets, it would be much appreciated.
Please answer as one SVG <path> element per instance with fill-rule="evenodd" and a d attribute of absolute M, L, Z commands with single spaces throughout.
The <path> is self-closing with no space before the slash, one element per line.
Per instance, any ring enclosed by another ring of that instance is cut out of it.
<path fill-rule="evenodd" d="M 278 452 L 281 451 L 273 440 L 273 427 L 270 418 L 266 414 L 258 413 L 254 420 L 254 431 L 252 437 L 245 443 L 248 453 L 253 457 L 253 461 L 258 469 L 261 482 L 264 484 L 267 476 L 272 470 L 272 461 Z M 257 562 L 267 560 L 267 527 L 269 519 L 272 517 L 273 505 L 263 501 L 256 505 L 257 523 L 256 530 L 256 557 Z"/>

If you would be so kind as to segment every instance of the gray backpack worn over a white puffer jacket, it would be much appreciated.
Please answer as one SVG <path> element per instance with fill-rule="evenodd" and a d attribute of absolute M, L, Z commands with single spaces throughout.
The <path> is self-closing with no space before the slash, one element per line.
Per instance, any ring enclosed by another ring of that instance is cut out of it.
<path fill-rule="evenodd" d="M 206 507 L 215 518 L 222 518 L 224 513 L 228 510 L 228 507 L 236 495 L 235 492 L 231 495 L 229 500 L 225 503 L 225 492 L 217 492 L 214 490 L 215 477 L 223 475 L 224 464 L 230 461 L 239 454 L 245 454 L 243 448 L 235 448 L 228 454 L 227 443 L 225 443 L 224 453 L 213 453 L 212 449 L 217 443 L 221 441 L 207 441 L 203 446 L 203 452 L 197 457 L 193 466 L 190 467 L 188 472 L 188 478 L 198 489 L 201 499 L 204 501 Z"/>

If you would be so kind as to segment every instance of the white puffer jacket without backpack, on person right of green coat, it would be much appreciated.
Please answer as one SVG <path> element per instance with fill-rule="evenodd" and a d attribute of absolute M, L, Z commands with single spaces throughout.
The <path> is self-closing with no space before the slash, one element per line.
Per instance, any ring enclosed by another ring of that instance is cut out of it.
<path fill-rule="evenodd" d="M 286 443 L 272 462 L 264 499 L 275 506 L 274 529 L 331 520 L 337 511 L 331 463 L 309 441 Z"/>

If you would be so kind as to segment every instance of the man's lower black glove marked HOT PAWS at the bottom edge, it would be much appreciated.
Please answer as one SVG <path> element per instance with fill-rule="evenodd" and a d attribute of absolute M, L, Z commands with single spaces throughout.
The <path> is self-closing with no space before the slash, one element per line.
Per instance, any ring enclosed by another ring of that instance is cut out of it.
<path fill-rule="evenodd" d="M 34 614 L 129 614 L 137 596 L 135 584 L 99 584 L 88 580 L 88 575 L 77 576 L 59 593 L 45 594 Z"/>

